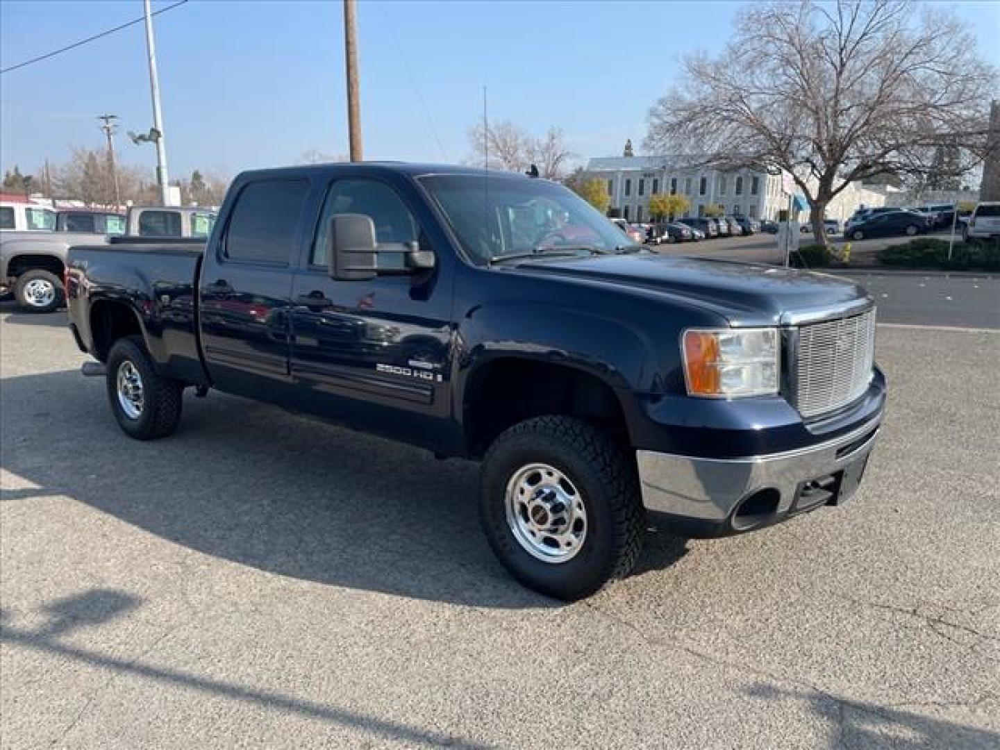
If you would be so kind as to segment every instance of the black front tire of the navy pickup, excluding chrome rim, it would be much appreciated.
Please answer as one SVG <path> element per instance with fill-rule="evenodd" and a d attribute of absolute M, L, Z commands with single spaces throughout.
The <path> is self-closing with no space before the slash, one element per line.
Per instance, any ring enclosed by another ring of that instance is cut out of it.
<path fill-rule="evenodd" d="M 585 502 L 586 534 L 575 556 L 563 562 L 533 556 L 507 520 L 508 483 L 536 463 L 564 474 Z M 529 419 L 493 442 L 483 462 L 480 517 L 490 546 L 514 578 L 565 601 L 628 575 L 642 547 L 635 464 L 607 434 L 573 417 Z"/>

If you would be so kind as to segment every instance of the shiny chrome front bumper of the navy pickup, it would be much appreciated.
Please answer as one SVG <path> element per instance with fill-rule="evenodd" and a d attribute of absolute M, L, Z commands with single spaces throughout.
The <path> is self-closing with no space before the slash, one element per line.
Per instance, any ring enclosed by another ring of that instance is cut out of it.
<path fill-rule="evenodd" d="M 762 490 L 778 493 L 775 519 L 802 509 L 797 503 L 806 483 L 831 475 L 839 476 L 833 502 L 844 502 L 856 488 L 880 421 L 881 415 L 834 440 L 764 456 L 712 459 L 637 451 L 643 505 L 724 533 L 743 530 L 731 528 L 733 513 Z"/>

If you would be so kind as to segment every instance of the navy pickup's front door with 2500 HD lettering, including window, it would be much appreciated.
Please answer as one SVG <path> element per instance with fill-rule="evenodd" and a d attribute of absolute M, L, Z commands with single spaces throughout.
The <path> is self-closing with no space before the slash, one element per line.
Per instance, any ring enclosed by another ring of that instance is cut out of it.
<path fill-rule="evenodd" d="M 417 201 L 402 189 L 368 177 L 330 185 L 293 283 L 291 374 L 303 409 L 430 444 L 435 424 L 450 413 L 451 269 L 443 253 L 436 253 L 433 270 L 406 274 L 401 253 L 380 252 L 379 267 L 397 273 L 367 281 L 336 281 L 327 270 L 327 233 L 337 214 L 371 217 L 379 245 L 435 249 L 433 233 L 422 230 L 412 210 Z"/>

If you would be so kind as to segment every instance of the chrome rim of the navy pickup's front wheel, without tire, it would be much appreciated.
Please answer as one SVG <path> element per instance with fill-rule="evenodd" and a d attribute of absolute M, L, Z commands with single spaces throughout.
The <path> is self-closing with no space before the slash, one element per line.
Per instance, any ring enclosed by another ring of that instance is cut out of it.
<path fill-rule="evenodd" d="M 587 508 L 569 478 L 548 464 L 514 472 L 505 494 L 507 525 L 532 557 L 548 563 L 572 560 L 587 538 Z"/>

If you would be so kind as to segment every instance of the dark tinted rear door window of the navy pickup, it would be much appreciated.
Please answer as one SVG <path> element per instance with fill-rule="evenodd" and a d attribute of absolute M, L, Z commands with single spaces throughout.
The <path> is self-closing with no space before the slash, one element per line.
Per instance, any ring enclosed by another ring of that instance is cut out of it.
<path fill-rule="evenodd" d="M 226 231 L 226 257 L 287 265 L 308 188 L 306 180 L 263 180 L 244 187 Z"/>

